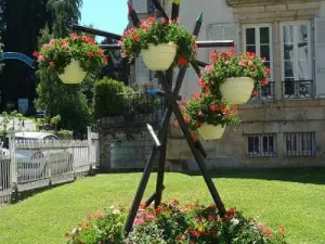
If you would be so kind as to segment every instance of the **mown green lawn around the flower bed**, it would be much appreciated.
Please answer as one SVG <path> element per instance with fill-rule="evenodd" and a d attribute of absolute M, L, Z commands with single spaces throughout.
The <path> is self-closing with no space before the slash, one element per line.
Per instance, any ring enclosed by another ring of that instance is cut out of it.
<path fill-rule="evenodd" d="M 285 226 L 292 244 L 325 243 L 325 169 L 223 170 L 212 172 L 226 207 L 266 224 Z M 90 211 L 129 207 L 141 174 L 98 175 L 39 193 L 0 209 L 0 243 L 60 244 Z M 153 175 L 145 196 L 155 187 Z M 164 200 L 211 203 L 200 176 L 166 174 Z"/>

